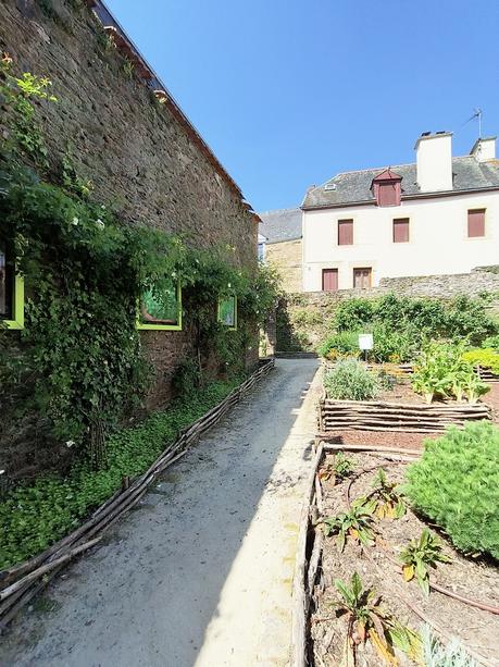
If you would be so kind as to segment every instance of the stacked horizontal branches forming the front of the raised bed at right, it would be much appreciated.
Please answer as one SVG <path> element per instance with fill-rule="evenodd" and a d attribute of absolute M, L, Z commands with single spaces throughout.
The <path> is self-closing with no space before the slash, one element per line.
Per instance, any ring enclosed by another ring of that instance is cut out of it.
<path fill-rule="evenodd" d="M 440 433 L 449 425 L 463 428 L 471 420 L 491 420 L 492 411 L 477 404 L 407 404 L 376 400 L 334 400 L 319 403 L 319 430 L 399 431 L 403 433 Z"/>

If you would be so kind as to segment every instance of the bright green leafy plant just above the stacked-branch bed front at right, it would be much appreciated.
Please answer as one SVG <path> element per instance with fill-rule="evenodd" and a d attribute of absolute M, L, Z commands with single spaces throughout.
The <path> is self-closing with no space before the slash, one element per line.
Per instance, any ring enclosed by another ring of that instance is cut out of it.
<path fill-rule="evenodd" d="M 490 387 L 475 373 L 473 363 L 463 357 L 463 344 L 429 344 L 414 367 L 414 391 L 422 394 L 426 403 L 435 397 L 462 400 L 464 396 L 470 403 L 476 403 Z"/>

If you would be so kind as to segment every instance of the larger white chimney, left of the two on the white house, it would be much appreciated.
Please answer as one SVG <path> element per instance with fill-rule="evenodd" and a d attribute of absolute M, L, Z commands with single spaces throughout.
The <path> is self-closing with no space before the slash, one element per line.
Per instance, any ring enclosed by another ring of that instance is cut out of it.
<path fill-rule="evenodd" d="M 424 133 L 414 146 L 422 193 L 452 189 L 452 133 Z"/>

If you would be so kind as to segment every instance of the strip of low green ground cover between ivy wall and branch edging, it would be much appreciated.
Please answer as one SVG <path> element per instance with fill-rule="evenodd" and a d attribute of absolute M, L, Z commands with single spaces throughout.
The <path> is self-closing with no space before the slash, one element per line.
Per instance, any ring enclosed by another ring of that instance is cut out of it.
<path fill-rule="evenodd" d="M 117 431 L 108 441 L 108 466 L 78 460 L 67 475 L 38 478 L 0 498 L 0 569 L 35 556 L 77 526 L 122 485 L 145 472 L 178 432 L 223 400 L 240 379 L 198 390 L 196 400 L 175 400 L 166 410 Z"/>

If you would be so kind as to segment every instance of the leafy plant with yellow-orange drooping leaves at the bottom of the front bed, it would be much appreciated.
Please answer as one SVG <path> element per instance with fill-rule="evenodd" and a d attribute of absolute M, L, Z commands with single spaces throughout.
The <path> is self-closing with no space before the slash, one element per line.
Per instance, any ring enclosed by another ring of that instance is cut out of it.
<path fill-rule="evenodd" d="M 338 617 L 347 616 L 346 663 L 355 664 L 357 645 L 371 641 L 379 656 L 388 665 L 397 665 L 395 647 L 411 657 L 421 653 L 417 633 L 402 626 L 382 606 L 382 598 L 373 589 L 364 589 L 357 572 L 350 584 L 335 580 L 340 598 L 334 604 Z"/>

